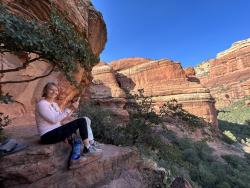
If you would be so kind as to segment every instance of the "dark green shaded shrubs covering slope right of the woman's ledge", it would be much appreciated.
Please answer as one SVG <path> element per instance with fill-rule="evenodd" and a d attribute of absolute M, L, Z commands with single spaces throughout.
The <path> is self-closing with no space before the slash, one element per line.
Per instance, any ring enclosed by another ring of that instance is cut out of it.
<path fill-rule="evenodd" d="M 248 155 L 246 159 L 233 155 L 218 158 L 205 140 L 195 142 L 189 138 L 178 138 L 164 126 L 164 121 L 170 118 L 180 120 L 175 123 L 183 123 L 180 117 L 183 113 L 180 113 L 177 101 L 164 105 L 167 113 L 157 115 L 150 97 L 140 92 L 132 97 L 137 102 L 128 103 L 130 119 L 126 127 L 117 126 L 115 122 L 119 117 L 95 104 L 83 104 L 79 113 L 91 117 L 96 138 L 100 141 L 135 146 L 143 159 L 150 159 L 163 167 L 166 176 L 162 181 L 166 187 L 177 176 L 189 180 L 194 187 L 246 188 L 250 184 Z M 190 121 L 186 122 L 190 124 Z"/>

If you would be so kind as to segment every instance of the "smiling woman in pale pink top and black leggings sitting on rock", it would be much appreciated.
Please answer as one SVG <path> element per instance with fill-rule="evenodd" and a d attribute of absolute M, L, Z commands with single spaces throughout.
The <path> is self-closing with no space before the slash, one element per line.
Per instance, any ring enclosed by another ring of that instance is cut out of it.
<path fill-rule="evenodd" d="M 70 118 L 71 114 L 78 108 L 79 100 L 73 102 L 69 108 L 61 111 L 55 102 L 58 93 L 57 85 L 53 82 L 49 82 L 43 89 L 42 97 L 44 98 L 36 104 L 36 124 L 41 136 L 41 143 L 54 144 L 65 141 L 79 130 L 84 144 L 83 152 L 86 154 L 101 152 L 101 149 L 97 149 L 94 144 L 90 144 L 90 140 L 93 142 L 93 134 L 89 118 L 78 118 L 64 125 L 61 124 L 63 120 Z"/>

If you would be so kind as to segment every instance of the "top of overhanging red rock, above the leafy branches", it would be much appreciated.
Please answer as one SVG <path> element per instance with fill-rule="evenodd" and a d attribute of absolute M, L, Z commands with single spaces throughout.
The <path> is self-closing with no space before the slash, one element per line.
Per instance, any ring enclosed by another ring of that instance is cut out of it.
<path fill-rule="evenodd" d="M 66 15 L 75 29 L 87 37 L 94 54 L 99 55 L 107 40 L 106 25 L 100 12 L 96 11 L 89 0 L 1 0 L 14 14 L 27 19 L 45 21 L 49 19 L 52 6 Z M 67 14 L 65 14 L 67 13 Z"/>

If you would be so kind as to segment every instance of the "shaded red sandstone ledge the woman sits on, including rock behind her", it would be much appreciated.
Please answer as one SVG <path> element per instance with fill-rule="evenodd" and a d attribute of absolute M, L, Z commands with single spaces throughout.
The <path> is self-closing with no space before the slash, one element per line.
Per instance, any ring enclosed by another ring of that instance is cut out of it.
<path fill-rule="evenodd" d="M 133 148 L 103 145 L 101 158 L 93 161 L 88 157 L 88 162 L 79 162 L 79 168 L 74 164 L 68 170 L 69 145 L 39 144 L 34 125 L 8 126 L 6 133 L 30 146 L 0 158 L 3 188 L 137 188 L 162 183 L 164 172 L 143 163 Z"/>

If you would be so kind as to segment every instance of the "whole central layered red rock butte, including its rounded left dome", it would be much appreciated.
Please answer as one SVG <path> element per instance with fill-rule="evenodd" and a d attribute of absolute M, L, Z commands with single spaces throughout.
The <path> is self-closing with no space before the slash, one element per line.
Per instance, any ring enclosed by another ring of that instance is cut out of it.
<path fill-rule="evenodd" d="M 128 58 L 110 64 L 100 64 L 94 67 L 92 74 L 95 85 L 92 88 L 96 88 L 92 89 L 93 98 L 99 95 L 102 100 L 114 99 L 110 106 L 115 106 L 118 96 L 115 91 L 119 91 L 119 98 L 122 99 L 124 91 L 133 93 L 138 89 L 144 89 L 146 96 L 153 97 L 156 107 L 175 98 L 189 112 L 217 125 L 214 100 L 209 90 L 195 79 L 193 69 L 185 71 L 179 63 L 167 59 L 152 61 Z M 105 92 L 100 92 L 101 90 Z M 119 111 L 122 111 L 122 108 Z"/>

